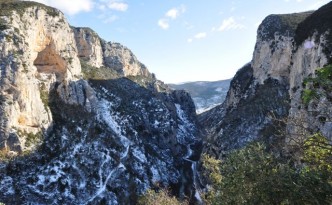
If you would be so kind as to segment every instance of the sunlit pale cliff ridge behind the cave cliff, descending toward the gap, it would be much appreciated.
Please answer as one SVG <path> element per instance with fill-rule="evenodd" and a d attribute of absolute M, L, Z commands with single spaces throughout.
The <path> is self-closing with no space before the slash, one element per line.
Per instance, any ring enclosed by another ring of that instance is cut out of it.
<path fill-rule="evenodd" d="M 127 47 L 106 42 L 90 28 L 72 28 L 86 79 L 127 77 L 156 92 L 170 91 Z"/>

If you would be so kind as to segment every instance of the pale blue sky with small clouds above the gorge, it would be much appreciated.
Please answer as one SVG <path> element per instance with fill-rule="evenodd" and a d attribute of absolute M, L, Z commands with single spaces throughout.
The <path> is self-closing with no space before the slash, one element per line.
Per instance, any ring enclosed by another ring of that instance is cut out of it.
<path fill-rule="evenodd" d="M 269 14 L 317 9 L 327 0 L 37 0 L 130 48 L 166 83 L 232 78 L 252 58 Z"/>

